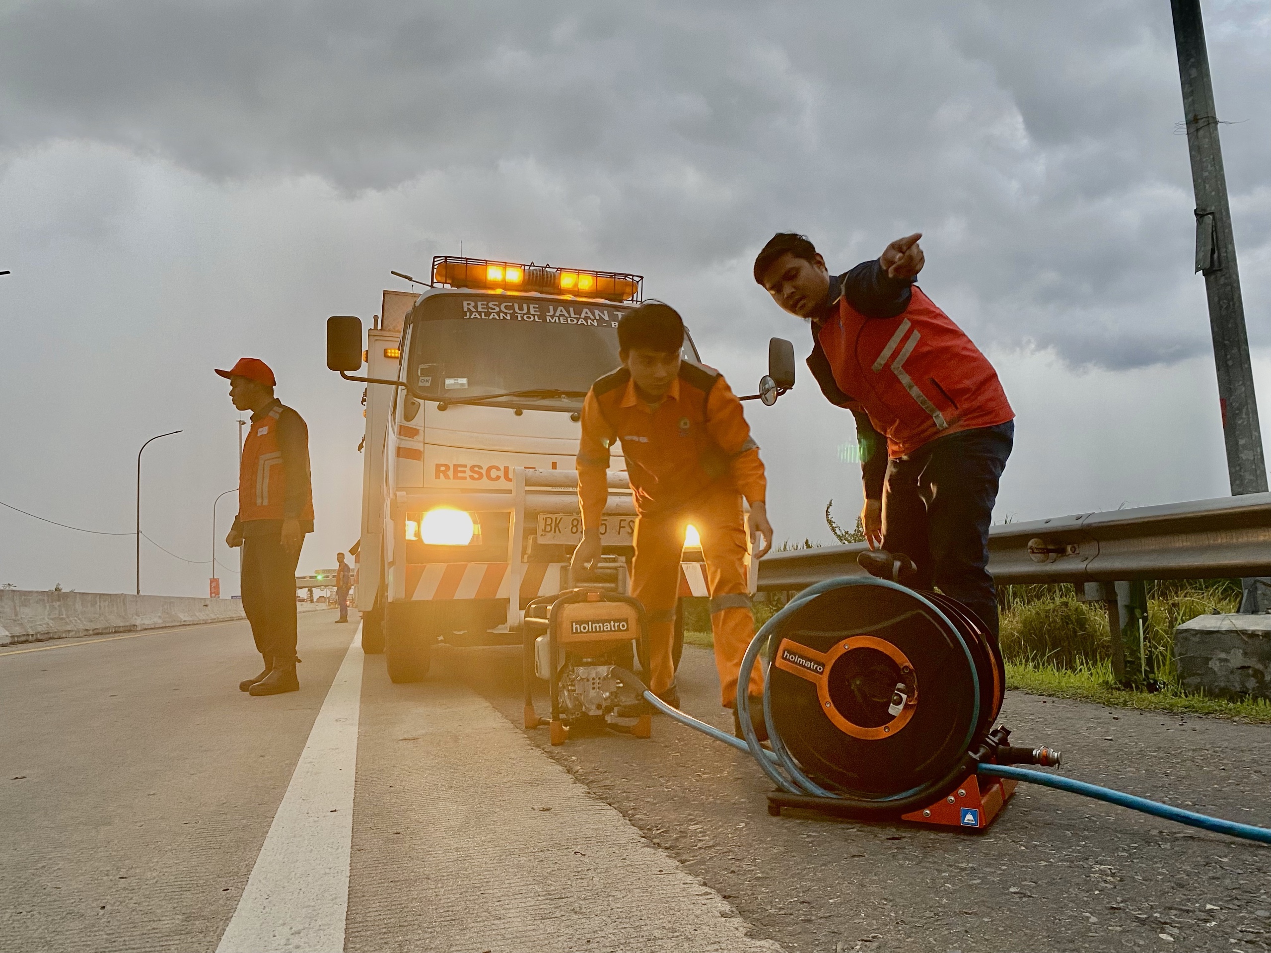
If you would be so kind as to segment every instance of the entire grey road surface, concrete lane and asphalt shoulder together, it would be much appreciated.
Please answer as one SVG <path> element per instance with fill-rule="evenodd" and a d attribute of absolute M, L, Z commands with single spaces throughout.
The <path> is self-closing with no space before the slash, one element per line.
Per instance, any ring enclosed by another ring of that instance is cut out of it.
<path fill-rule="evenodd" d="M 0 949 L 1271 949 L 1268 848 L 1026 785 L 979 835 L 773 818 L 745 755 L 669 719 L 552 748 L 515 656 L 394 686 L 333 616 L 267 699 L 243 623 L 0 651 Z M 728 724 L 709 652 L 680 686 Z M 1071 776 L 1271 825 L 1271 728 L 1018 694 L 1002 720 Z M 300 933 L 259 940 L 281 896 Z"/>

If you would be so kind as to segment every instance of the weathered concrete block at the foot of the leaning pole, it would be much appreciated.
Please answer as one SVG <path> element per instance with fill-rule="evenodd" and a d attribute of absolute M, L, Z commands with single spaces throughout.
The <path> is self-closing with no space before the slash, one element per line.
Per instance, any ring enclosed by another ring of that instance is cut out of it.
<path fill-rule="evenodd" d="M 1199 615 L 1174 629 L 1187 691 L 1271 699 L 1271 615 Z"/>

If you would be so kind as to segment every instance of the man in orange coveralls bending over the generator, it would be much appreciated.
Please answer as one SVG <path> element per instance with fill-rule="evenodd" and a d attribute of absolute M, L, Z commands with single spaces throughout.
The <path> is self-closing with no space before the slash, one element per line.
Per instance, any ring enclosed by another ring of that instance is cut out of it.
<path fill-rule="evenodd" d="M 737 720 L 737 671 L 755 634 L 746 579 L 746 529 L 742 497 L 750 503 L 752 531 L 764 537 L 758 559 L 773 544 L 764 493 L 768 482 L 759 447 L 750 436 L 741 402 L 718 371 L 681 358 L 684 321 L 674 308 L 648 301 L 618 324 L 623 366 L 587 391 L 578 445 L 578 497 L 582 541 L 573 553 L 576 577 L 600 560 L 600 524 L 609 498 L 609 452 L 622 442 L 636 498 L 636 559 L 632 595 L 648 620 L 649 689 L 679 708 L 671 659 L 680 554 L 685 527 L 702 537 L 710 587 L 710 628 L 724 708 Z M 750 680 L 750 710 L 760 738 L 763 675 Z"/>

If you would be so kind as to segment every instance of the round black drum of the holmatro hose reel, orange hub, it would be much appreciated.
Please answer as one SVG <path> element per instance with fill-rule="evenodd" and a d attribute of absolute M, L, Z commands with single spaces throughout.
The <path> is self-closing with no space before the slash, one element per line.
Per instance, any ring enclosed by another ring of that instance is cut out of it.
<path fill-rule="evenodd" d="M 957 767 L 1004 694 L 996 642 L 966 610 L 877 582 L 792 604 L 764 651 L 785 751 L 820 787 L 864 801 Z"/>

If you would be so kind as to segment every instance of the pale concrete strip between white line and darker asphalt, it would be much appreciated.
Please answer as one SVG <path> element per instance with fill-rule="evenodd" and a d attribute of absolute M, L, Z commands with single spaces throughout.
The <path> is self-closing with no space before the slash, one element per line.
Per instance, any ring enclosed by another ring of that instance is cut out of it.
<path fill-rule="evenodd" d="M 469 689 L 369 657 L 361 734 L 347 949 L 780 949 Z"/>

